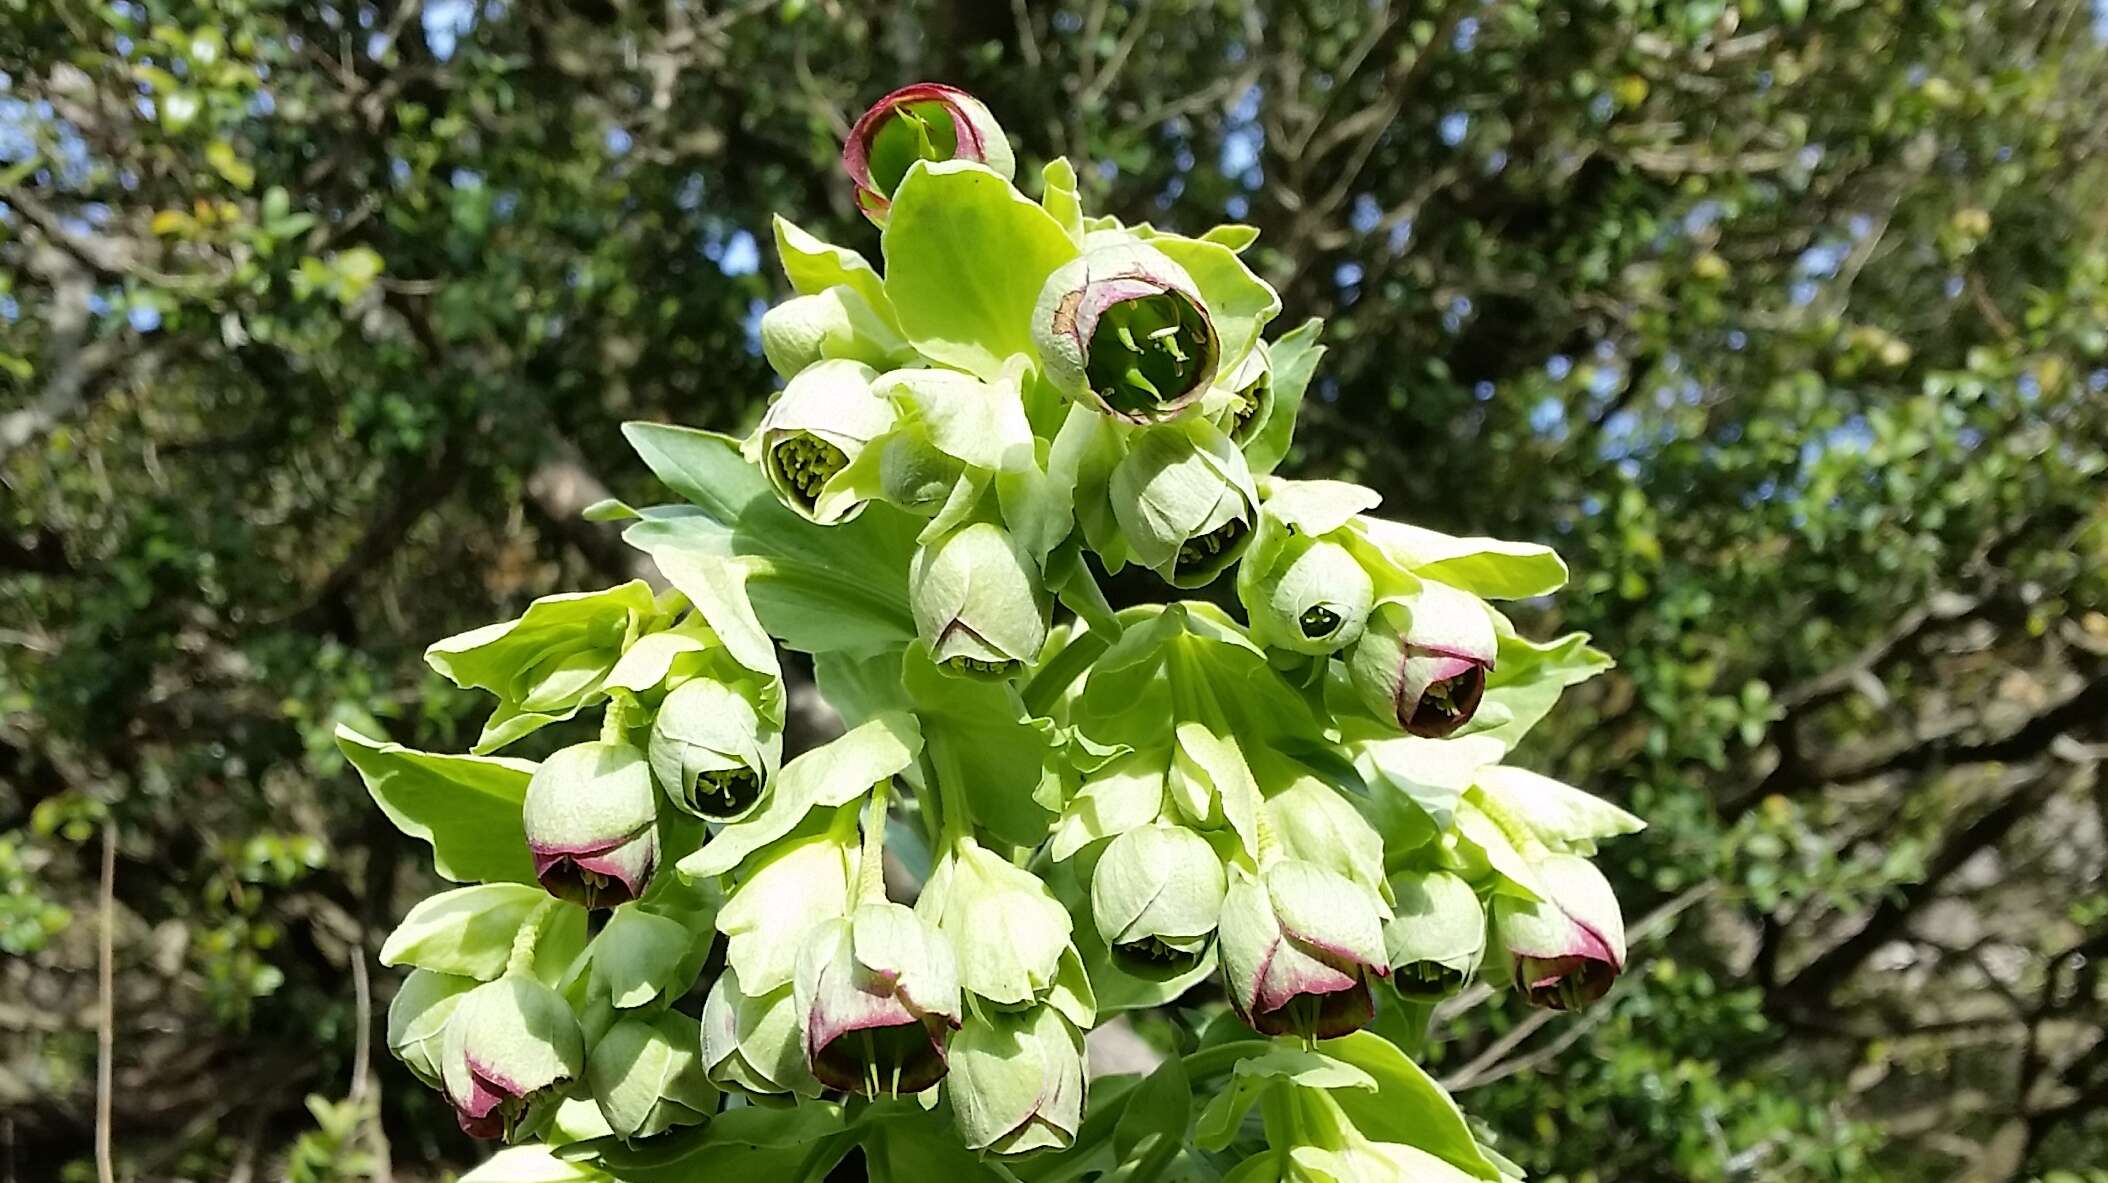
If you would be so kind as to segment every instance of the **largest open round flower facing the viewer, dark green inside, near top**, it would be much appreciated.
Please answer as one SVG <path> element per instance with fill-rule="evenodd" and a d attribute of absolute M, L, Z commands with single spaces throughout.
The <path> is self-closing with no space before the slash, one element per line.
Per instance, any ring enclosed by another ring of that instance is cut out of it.
<path fill-rule="evenodd" d="M 1039 289 L 1033 342 L 1046 373 L 1077 403 L 1153 424 L 1197 403 L 1221 365 L 1199 287 L 1138 240 L 1096 247 Z"/>

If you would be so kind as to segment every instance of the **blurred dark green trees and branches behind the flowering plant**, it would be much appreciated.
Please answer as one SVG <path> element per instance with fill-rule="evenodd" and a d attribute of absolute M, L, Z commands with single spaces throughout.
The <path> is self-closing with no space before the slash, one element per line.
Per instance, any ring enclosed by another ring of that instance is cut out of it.
<path fill-rule="evenodd" d="M 124 1172 L 462 1162 L 371 1052 L 415 884 L 329 730 L 464 746 L 422 641 L 630 574 L 578 517 L 651 500 L 616 424 L 750 420 L 765 211 L 868 245 L 835 146 L 930 76 L 1020 175 L 1265 232 L 1332 350 L 1292 470 L 1575 565 L 1528 624 L 1623 668 L 1522 755 L 1655 822 L 1646 936 L 1579 1019 L 1440 1016 L 1505 1153 L 2097 1164 L 2104 40 L 2085 0 L 0 0 L 0 1158 L 91 1153 L 110 827 Z"/>

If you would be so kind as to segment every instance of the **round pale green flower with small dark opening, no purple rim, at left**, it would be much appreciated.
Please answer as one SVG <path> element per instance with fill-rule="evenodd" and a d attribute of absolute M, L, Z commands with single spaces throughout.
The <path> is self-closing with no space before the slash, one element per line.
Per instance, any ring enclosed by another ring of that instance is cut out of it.
<path fill-rule="evenodd" d="M 734 685 L 691 679 L 651 719 L 651 774 L 683 812 L 729 822 L 761 799 L 782 759 L 782 730 Z"/>

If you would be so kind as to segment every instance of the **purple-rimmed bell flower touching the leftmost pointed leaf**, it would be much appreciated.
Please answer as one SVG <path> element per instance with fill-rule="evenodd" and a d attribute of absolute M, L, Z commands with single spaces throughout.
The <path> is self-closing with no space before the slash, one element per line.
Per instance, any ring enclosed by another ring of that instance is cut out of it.
<path fill-rule="evenodd" d="M 573 744 L 542 761 L 521 803 L 533 875 L 559 900 L 616 907 L 658 867 L 658 793 L 645 753 Z"/>

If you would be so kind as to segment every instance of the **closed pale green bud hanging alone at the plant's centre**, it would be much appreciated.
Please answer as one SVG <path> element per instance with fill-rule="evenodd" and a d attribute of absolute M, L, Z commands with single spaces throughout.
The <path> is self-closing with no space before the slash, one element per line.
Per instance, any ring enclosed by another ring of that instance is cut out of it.
<path fill-rule="evenodd" d="M 1039 656 L 1048 595 L 1039 567 L 1008 529 L 976 521 L 915 550 L 909 607 L 930 660 L 957 675 L 1001 679 Z"/>

